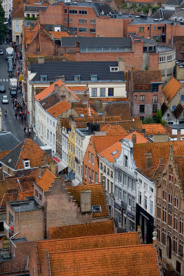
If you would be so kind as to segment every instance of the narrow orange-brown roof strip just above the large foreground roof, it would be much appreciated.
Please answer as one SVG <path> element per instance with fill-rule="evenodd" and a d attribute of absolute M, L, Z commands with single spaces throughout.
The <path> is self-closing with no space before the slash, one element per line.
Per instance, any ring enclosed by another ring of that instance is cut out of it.
<path fill-rule="evenodd" d="M 76 224 L 50 228 L 50 239 L 70 239 L 72 237 L 87 237 L 114 234 L 114 221 L 98 221 L 90 224 Z"/>

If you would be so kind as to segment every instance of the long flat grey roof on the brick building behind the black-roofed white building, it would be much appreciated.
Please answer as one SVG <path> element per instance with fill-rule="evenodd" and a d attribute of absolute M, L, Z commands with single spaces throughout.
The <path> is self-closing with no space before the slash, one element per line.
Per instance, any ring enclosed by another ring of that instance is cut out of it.
<path fill-rule="evenodd" d="M 62 47 L 75 47 L 76 41 L 80 42 L 81 47 L 92 46 L 132 46 L 132 39 L 130 37 L 62 37 Z"/>

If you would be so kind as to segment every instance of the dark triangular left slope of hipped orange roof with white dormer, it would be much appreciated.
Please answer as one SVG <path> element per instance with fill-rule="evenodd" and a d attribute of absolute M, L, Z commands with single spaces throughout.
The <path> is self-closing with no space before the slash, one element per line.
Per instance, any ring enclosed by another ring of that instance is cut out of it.
<path fill-rule="evenodd" d="M 24 142 L 21 142 L 21 144 L 19 144 L 13 150 L 11 150 L 8 153 L 8 155 L 5 155 L 3 158 L 1 158 L 0 162 L 12 169 L 16 169 L 17 161 L 19 160 L 19 155 L 23 148 L 23 144 L 24 144 Z"/>

